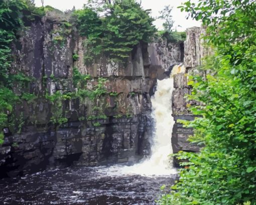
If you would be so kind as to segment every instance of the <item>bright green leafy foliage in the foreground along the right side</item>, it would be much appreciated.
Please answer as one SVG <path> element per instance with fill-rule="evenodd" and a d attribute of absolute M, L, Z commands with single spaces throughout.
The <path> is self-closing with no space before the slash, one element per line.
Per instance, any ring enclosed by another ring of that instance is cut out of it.
<path fill-rule="evenodd" d="M 200 0 L 182 10 L 207 26 L 204 37 L 215 56 L 201 67 L 206 76 L 190 77 L 188 100 L 194 121 L 190 141 L 204 145 L 200 153 L 176 154 L 180 179 L 160 204 L 256 204 L 256 3 Z"/>

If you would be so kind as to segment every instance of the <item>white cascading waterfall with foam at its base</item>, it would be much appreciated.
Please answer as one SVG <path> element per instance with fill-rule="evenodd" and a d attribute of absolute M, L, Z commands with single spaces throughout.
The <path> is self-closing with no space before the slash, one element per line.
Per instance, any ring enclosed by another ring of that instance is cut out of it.
<path fill-rule="evenodd" d="M 172 69 L 170 78 L 158 80 L 157 82 L 157 91 L 152 98 L 152 117 L 155 121 L 155 133 L 150 158 L 133 166 L 112 166 L 108 169 L 108 174 L 151 176 L 176 173 L 176 170 L 172 169 L 172 157 L 169 157 L 173 153 L 171 138 L 175 123 L 172 117 L 173 76 L 184 72 L 185 67 L 183 65 L 176 65 Z"/>

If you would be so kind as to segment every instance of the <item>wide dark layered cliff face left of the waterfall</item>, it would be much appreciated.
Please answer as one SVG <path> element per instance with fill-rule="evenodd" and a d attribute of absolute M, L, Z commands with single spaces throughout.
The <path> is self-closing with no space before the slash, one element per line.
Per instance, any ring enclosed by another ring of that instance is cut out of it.
<path fill-rule="evenodd" d="M 63 28 L 63 21 L 49 15 L 39 19 L 13 46 L 13 70 L 34 77 L 29 89 L 37 98 L 16 107 L 16 115 L 22 114 L 23 123 L 20 133 L 11 130 L 13 133 L 0 146 L 2 176 L 58 164 L 134 162 L 150 152 L 150 96 L 154 94 L 157 78 L 172 64 L 183 61 L 182 45 L 159 40 L 138 45 L 126 65 L 114 64 L 102 56 L 86 66 L 84 38 L 75 30 Z M 78 56 L 76 60 L 74 54 Z M 49 122 L 58 110 L 43 96 L 58 91 L 76 92 L 74 68 L 90 75 L 88 89 L 97 85 L 99 78 L 105 78 L 107 94 L 95 100 L 62 101 L 60 109 L 67 122 L 54 126 Z M 177 92 L 182 90 L 183 94 L 185 89 L 177 87 Z M 175 116 L 181 115 L 183 104 L 179 103 L 183 101 L 174 101 Z"/>

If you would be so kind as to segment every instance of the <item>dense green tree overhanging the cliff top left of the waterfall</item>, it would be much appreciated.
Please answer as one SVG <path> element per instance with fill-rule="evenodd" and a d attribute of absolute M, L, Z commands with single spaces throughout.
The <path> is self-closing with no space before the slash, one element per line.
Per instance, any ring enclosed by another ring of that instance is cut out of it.
<path fill-rule="evenodd" d="M 140 42 L 149 42 L 156 29 L 149 10 L 143 10 L 134 0 L 117 0 L 104 4 L 110 11 L 99 18 L 92 8 L 75 12 L 80 35 L 86 36 L 85 63 L 92 63 L 100 54 L 116 62 L 125 62 Z"/>

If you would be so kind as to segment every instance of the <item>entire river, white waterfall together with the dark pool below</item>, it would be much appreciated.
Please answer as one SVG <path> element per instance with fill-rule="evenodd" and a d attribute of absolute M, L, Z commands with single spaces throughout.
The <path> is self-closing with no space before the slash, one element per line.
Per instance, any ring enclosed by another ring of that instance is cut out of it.
<path fill-rule="evenodd" d="M 0 180 L 0 204 L 156 204 L 178 178 L 172 167 L 171 136 L 173 75 L 158 81 L 152 98 L 155 134 L 149 158 L 133 166 L 68 167 L 48 169 Z M 166 184 L 165 190 L 160 187 Z"/>

